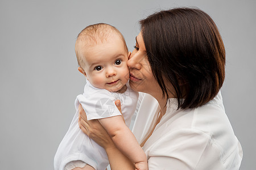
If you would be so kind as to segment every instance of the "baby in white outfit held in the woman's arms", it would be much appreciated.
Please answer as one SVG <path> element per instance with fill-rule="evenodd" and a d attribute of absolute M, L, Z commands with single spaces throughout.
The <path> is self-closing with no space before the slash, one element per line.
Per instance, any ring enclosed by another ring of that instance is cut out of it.
<path fill-rule="evenodd" d="M 146 154 L 128 128 L 136 109 L 138 92 L 131 90 L 127 83 L 127 61 L 131 53 L 121 32 L 109 24 L 89 25 L 79 33 L 75 51 L 79 71 L 85 75 L 86 84 L 84 94 L 76 98 L 76 114 L 56 152 L 55 170 L 78 167 L 105 170 L 109 164 L 104 148 L 79 128 L 79 104 L 88 120 L 100 121 L 115 145 L 137 169 L 148 169 Z M 121 100 L 125 122 L 114 104 L 118 99 Z"/>

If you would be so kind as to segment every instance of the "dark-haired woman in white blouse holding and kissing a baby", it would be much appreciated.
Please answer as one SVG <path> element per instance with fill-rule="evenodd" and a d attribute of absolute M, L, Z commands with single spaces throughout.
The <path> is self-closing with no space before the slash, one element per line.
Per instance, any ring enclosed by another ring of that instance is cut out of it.
<path fill-rule="evenodd" d="M 242 150 L 220 93 L 225 49 L 213 20 L 199 9 L 174 8 L 140 23 L 128 66 L 131 88 L 143 92 L 133 133 L 148 168 L 239 169 Z M 79 124 L 105 148 L 112 169 L 133 169 L 82 109 Z"/>

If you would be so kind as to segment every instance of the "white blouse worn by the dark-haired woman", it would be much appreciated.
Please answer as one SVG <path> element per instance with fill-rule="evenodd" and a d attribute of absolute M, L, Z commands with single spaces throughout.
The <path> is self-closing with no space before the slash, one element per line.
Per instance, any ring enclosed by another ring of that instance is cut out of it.
<path fill-rule="evenodd" d="M 242 148 L 225 114 L 221 93 L 196 109 L 177 110 L 175 99 L 143 146 L 149 169 L 239 169 Z M 141 143 L 154 125 L 158 102 L 140 94 L 133 133 Z"/>

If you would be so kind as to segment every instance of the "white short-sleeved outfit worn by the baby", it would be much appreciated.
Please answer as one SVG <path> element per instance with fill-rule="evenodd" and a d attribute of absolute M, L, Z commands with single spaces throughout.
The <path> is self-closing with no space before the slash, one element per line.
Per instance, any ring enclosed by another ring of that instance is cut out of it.
<path fill-rule="evenodd" d="M 114 104 L 115 100 L 120 100 L 123 117 L 126 125 L 129 126 L 139 94 L 131 90 L 129 83 L 126 86 L 127 90 L 120 94 L 96 88 L 90 82 L 86 82 L 84 94 L 78 95 L 75 100 L 76 114 L 57 149 L 54 159 L 55 170 L 63 170 L 67 163 L 74 160 L 82 160 L 96 170 L 106 169 L 109 162 L 104 148 L 90 139 L 79 128 L 77 123 L 79 120 L 78 107 L 81 103 L 88 120 L 106 118 L 121 115 Z"/>

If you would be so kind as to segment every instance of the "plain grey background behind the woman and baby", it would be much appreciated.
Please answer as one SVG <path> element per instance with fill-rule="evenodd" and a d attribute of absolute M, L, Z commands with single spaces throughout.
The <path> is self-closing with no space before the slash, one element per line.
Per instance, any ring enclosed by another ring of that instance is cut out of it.
<path fill-rule="evenodd" d="M 212 16 L 226 48 L 222 96 L 243 147 L 240 169 L 255 168 L 256 1 L 0 1 L 0 169 L 53 169 L 85 79 L 75 40 L 86 25 L 117 27 L 133 50 L 138 20 L 172 7 Z"/>

